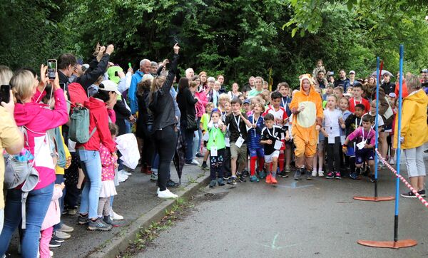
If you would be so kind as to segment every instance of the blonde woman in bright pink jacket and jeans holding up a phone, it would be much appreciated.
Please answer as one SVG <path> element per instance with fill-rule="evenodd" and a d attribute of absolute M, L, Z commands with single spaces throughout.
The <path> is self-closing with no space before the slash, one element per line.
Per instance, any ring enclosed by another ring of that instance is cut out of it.
<path fill-rule="evenodd" d="M 41 67 L 41 81 L 45 84 L 46 67 Z M 53 84 L 55 108 L 36 103 L 32 97 L 36 93 L 39 81 L 33 73 L 21 70 L 11 78 L 10 85 L 17 103 L 14 110 L 16 125 L 26 129 L 24 148 L 34 155 L 34 168 L 39 172 L 39 183 L 29 192 L 26 200 L 26 229 L 21 240 L 22 257 L 36 257 L 39 250 L 39 234 L 41 223 L 51 203 L 55 182 L 55 165 L 51 156 L 51 148 L 46 140 L 46 130 L 67 123 L 68 113 L 64 93 L 59 87 L 58 74 Z M 9 247 L 11 236 L 21 222 L 21 188 L 7 191 L 4 208 L 4 228 L 0 234 L 0 257 Z"/>

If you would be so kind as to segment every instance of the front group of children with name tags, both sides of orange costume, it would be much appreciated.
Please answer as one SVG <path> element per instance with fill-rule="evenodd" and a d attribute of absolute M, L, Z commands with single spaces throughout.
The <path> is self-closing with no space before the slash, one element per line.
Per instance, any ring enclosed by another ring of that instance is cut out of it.
<path fill-rule="evenodd" d="M 294 148 L 292 113 L 288 105 L 295 91 L 290 94 L 290 86 L 280 83 L 277 91 L 270 93 L 269 102 L 261 94 L 250 99 L 239 96 L 231 100 L 227 94 L 222 94 L 217 105 L 206 105 L 200 128 L 208 150 L 202 168 L 208 169 L 209 158 L 210 187 L 225 185 L 225 180 L 229 185 L 245 182 L 248 158 L 250 182 L 265 179 L 267 184 L 277 184 L 277 177 L 288 177 Z M 316 91 L 324 100 L 324 121 L 313 170 L 305 173 L 306 180 L 317 176 L 341 179 L 341 170 L 349 166 L 350 178 L 358 180 L 367 175 L 373 182 L 376 103 L 361 98 L 361 84 L 348 91 L 352 98 L 349 94 L 343 96 L 340 87 L 331 93 L 322 94 L 321 88 Z M 326 175 L 323 170 L 325 152 L 328 157 Z M 301 177 L 302 173 L 296 173 L 294 178 L 301 180 Z"/>

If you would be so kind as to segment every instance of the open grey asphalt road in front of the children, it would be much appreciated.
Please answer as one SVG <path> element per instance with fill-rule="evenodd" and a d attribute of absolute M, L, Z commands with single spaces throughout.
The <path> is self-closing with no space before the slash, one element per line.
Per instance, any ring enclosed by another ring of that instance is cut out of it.
<path fill-rule="evenodd" d="M 428 167 L 428 155 L 425 157 Z M 403 170 L 404 172 L 404 170 Z M 395 195 L 392 172 L 379 173 L 379 196 Z M 404 172 L 406 174 L 406 172 Z M 407 190 L 400 184 L 401 192 Z M 399 239 L 416 247 L 377 249 L 358 239 L 392 240 L 394 201 L 362 202 L 374 184 L 365 180 L 264 182 L 206 187 L 195 207 L 136 257 L 425 257 L 428 209 L 417 199 L 399 198 Z"/>

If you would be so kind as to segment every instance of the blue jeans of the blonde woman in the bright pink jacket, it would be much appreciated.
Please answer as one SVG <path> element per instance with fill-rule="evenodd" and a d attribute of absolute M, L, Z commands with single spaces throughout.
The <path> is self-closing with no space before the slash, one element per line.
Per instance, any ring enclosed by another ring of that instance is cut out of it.
<path fill-rule="evenodd" d="M 4 227 L 0 234 L 0 257 L 7 251 L 12 234 L 22 219 L 21 190 L 7 190 Z M 29 192 L 26 200 L 26 229 L 21 239 L 21 256 L 37 257 L 41 223 L 44 221 L 54 193 L 54 183 Z"/>

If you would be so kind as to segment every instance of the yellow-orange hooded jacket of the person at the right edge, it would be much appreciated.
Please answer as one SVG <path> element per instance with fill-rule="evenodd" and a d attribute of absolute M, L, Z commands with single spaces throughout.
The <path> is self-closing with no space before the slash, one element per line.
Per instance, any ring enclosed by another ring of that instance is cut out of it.
<path fill-rule="evenodd" d="M 412 149 L 428 142 L 428 96 L 421 89 L 409 93 L 402 103 L 402 130 L 404 142 L 401 148 Z M 397 148 L 398 115 L 395 115 L 394 148 Z"/>

